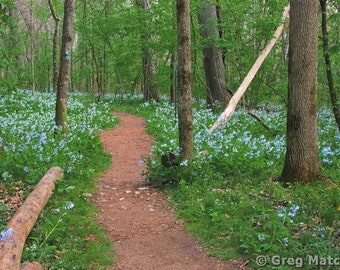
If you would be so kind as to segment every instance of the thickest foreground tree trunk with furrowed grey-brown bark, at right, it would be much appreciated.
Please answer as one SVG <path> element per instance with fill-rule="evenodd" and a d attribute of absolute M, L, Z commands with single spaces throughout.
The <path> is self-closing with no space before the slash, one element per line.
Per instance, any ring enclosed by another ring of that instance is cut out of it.
<path fill-rule="evenodd" d="M 287 148 L 281 180 L 309 183 L 320 169 L 317 133 L 318 0 L 291 0 Z"/>

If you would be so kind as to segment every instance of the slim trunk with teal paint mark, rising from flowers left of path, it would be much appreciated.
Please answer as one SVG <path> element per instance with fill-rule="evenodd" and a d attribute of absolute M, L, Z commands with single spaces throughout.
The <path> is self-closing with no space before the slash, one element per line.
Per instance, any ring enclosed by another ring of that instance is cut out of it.
<path fill-rule="evenodd" d="M 60 54 L 60 70 L 57 85 L 56 126 L 67 133 L 67 94 L 71 73 L 74 0 L 65 1 L 64 22 Z"/>

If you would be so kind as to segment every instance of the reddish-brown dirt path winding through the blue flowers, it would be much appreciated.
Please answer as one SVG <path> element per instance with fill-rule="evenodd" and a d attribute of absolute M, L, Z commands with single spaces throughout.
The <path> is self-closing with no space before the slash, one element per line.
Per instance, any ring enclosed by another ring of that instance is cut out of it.
<path fill-rule="evenodd" d="M 122 123 L 101 135 L 105 151 L 112 154 L 111 168 L 99 179 L 94 198 L 100 208 L 98 222 L 112 239 L 121 270 L 238 269 L 207 256 L 159 191 L 140 180 L 142 155 L 148 154 L 152 138 L 144 131 L 144 119 L 115 113 Z"/>

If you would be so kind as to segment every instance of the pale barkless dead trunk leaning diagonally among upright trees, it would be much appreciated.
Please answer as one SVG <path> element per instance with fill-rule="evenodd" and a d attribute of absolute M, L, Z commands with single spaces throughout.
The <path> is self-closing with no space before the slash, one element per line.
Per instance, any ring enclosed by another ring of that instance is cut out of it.
<path fill-rule="evenodd" d="M 247 76 L 244 78 L 243 82 L 241 83 L 240 87 L 237 89 L 233 97 L 230 99 L 228 106 L 224 110 L 224 112 L 220 115 L 220 117 L 217 119 L 217 121 L 211 126 L 209 129 L 210 132 L 214 131 L 219 125 L 226 124 L 229 120 L 229 118 L 233 115 L 235 108 L 237 106 L 237 103 L 240 101 L 243 94 L 246 92 L 249 84 L 254 79 L 257 71 L 261 67 L 263 61 L 266 59 L 268 54 L 270 53 L 271 49 L 274 47 L 276 41 L 279 39 L 279 37 L 282 34 L 282 30 L 284 27 L 284 21 L 287 18 L 289 13 L 289 5 L 285 7 L 285 10 L 282 15 L 282 24 L 276 29 L 274 37 L 269 41 L 267 46 L 262 51 L 261 55 L 257 58 L 254 65 L 248 72 Z"/>

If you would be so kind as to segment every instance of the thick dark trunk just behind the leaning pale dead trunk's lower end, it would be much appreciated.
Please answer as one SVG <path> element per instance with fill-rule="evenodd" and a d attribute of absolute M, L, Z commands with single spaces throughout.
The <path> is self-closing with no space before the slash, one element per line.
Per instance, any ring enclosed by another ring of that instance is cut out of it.
<path fill-rule="evenodd" d="M 223 105 L 229 100 L 226 91 L 226 78 L 223 64 L 223 56 L 216 46 L 218 32 L 216 6 L 211 0 L 204 0 L 201 14 L 198 16 L 201 26 L 201 35 L 205 40 L 203 48 L 204 72 L 207 87 L 207 103 L 213 105 L 222 102 Z"/>

